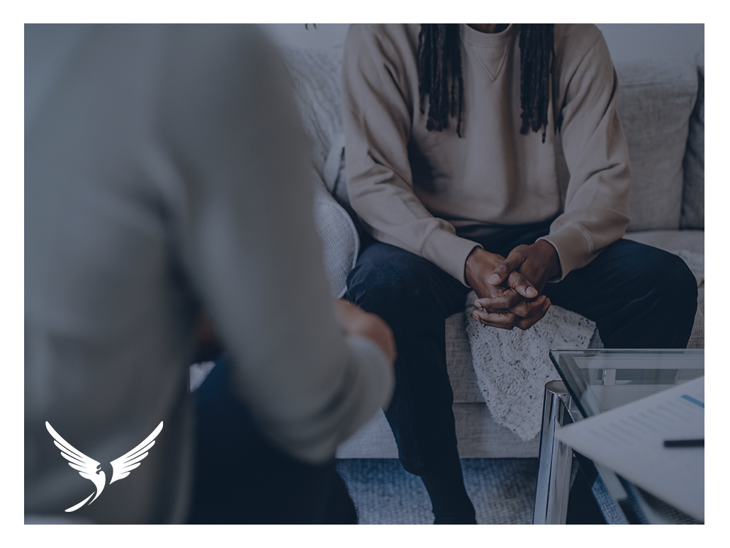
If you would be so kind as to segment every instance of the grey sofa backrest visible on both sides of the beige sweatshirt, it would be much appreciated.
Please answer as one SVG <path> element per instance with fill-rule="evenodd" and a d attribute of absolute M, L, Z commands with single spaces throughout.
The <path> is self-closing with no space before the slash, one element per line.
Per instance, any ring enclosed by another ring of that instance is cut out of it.
<path fill-rule="evenodd" d="M 326 164 L 342 167 L 342 46 L 283 47 L 282 53 L 314 142 L 315 170 L 348 208 L 344 170 L 339 170 L 339 179 L 325 176 Z M 685 58 L 653 58 L 616 64 L 616 72 L 618 112 L 633 176 L 629 232 L 704 228 L 704 93 L 698 103 L 696 64 Z M 685 160 L 688 150 L 691 158 Z"/>

